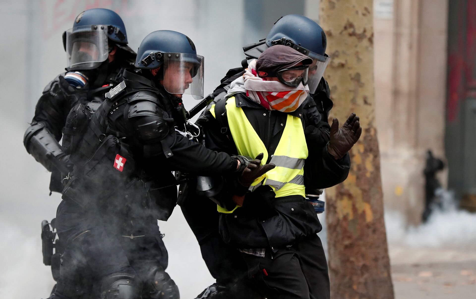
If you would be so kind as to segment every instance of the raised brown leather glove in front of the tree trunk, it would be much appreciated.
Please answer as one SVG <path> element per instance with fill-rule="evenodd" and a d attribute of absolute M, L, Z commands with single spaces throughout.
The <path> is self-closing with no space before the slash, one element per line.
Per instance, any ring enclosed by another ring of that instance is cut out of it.
<path fill-rule="evenodd" d="M 352 113 L 346 123 L 339 129 L 339 121 L 332 120 L 330 127 L 330 140 L 327 145 L 327 151 L 335 159 L 342 159 L 347 151 L 357 142 L 362 134 L 359 117 Z"/>

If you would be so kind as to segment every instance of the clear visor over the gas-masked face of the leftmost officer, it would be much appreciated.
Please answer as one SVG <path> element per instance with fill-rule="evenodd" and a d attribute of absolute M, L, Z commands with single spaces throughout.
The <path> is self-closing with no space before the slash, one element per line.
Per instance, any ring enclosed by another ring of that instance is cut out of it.
<path fill-rule="evenodd" d="M 79 26 L 66 31 L 68 70 L 95 69 L 109 56 L 106 25 Z"/>

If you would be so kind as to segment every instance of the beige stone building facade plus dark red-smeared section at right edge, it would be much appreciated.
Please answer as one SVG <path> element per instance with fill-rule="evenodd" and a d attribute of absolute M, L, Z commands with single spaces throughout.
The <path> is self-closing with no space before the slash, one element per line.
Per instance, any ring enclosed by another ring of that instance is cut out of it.
<path fill-rule="evenodd" d="M 378 139 L 387 209 L 421 221 L 426 151 L 445 187 L 476 196 L 476 0 L 375 0 Z M 476 207 L 474 207 L 476 208 Z"/>

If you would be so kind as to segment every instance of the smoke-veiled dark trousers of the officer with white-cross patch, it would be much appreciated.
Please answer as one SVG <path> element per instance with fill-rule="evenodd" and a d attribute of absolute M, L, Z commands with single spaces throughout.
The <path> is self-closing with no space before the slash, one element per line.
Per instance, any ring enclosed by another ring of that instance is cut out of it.
<path fill-rule="evenodd" d="M 83 209 L 72 200 L 61 201 L 56 226 L 66 248 L 55 296 L 96 298 L 101 279 L 109 274 L 128 273 L 144 281 L 154 268 L 167 268 L 168 253 L 157 220 L 129 220 L 131 226 L 121 229 L 123 219 L 114 217 Z"/>

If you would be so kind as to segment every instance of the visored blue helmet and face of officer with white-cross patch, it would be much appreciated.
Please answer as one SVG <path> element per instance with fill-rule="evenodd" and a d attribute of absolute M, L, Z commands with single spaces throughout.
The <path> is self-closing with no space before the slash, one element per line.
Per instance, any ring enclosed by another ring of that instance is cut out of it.
<path fill-rule="evenodd" d="M 140 43 L 135 66 L 159 70 L 159 80 L 171 94 L 191 94 L 203 98 L 203 56 L 197 55 L 188 36 L 171 30 L 149 33 Z"/>

